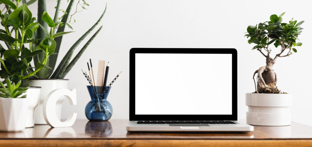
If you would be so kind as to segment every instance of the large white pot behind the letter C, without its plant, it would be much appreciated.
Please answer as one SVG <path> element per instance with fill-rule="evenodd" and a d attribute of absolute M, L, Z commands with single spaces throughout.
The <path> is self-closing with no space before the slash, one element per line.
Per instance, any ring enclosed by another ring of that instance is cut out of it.
<path fill-rule="evenodd" d="M 67 89 L 67 79 L 31 79 L 29 82 L 31 86 L 40 86 L 39 105 L 35 110 L 35 124 L 45 125 L 46 120 L 43 117 L 43 102 L 47 98 L 48 94 L 55 89 Z M 65 96 L 61 96 L 56 102 L 56 116 L 61 120 L 62 103 L 65 100 Z"/>

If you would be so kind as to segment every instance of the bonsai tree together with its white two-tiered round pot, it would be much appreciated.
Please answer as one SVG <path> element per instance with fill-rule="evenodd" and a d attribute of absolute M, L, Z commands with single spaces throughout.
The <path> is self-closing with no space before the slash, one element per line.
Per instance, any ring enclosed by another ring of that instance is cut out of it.
<path fill-rule="evenodd" d="M 285 12 L 284 12 L 285 13 Z M 298 22 L 291 19 L 289 23 L 282 23 L 280 16 L 271 15 L 270 21 L 248 26 L 245 36 L 248 43 L 255 43 L 252 50 L 259 51 L 266 58 L 266 66 L 254 72 L 253 80 L 256 91 L 246 93 L 246 122 L 250 125 L 282 126 L 291 123 L 291 94 L 281 92 L 277 86 L 277 75 L 273 65 L 279 57 L 287 57 L 297 52 L 294 47 L 301 46 L 298 36 L 303 28 Z M 272 46 L 274 45 L 274 46 Z M 280 48 L 278 51 L 275 48 Z M 278 51 L 276 54 L 271 51 Z M 254 76 L 257 74 L 256 81 Z"/>

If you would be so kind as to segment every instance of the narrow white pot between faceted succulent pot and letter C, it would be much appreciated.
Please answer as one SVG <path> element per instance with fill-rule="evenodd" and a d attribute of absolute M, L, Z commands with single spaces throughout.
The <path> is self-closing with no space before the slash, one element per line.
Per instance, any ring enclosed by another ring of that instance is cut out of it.
<path fill-rule="evenodd" d="M 25 93 L 29 98 L 29 105 L 26 117 L 25 128 L 33 127 L 35 125 L 35 108 L 39 105 L 41 87 L 29 87 Z"/>

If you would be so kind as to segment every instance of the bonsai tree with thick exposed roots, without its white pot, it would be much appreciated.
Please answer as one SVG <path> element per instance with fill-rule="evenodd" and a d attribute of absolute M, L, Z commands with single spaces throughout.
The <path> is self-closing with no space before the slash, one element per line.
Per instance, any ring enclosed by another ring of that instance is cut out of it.
<path fill-rule="evenodd" d="M 285 13 L 285 12 L 284 12 Z M 277 76 L 273 70 L 273 65 L 279 57 L 290 56 L 293 52 L 297 52 L 296 46 L 301 46 L 298 36 L 303 28 L 300 25 L 304 22 L 298 22 L 293 19 L 289 23 L 282 23 L 282 16 L 273 14 L 270 16 L 270 21 L 259 23 L 256 26 L 248 26 L 245 36 L 248 43 L 254 43 L 256 46 L 252 50 L 259 51 L 266 58 L 266 66 L 260 67 L 255 71 L 253 80 L 255 82 L 255 93 L 281 93 L 276 86 Z M 280 52 L 276 55 L 271 55 L 271 47 L 273 44 L 276 48 L 280 48 Z M 257 73 L 257 86 L 254 76 Z"/>

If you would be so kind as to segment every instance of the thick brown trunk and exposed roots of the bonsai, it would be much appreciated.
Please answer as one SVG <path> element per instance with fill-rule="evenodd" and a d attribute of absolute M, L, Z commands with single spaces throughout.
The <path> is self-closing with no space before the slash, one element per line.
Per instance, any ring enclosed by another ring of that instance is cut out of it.
<path fill-rule="evenodd" d="M 253 79 L 256 73 L 257 86 L 255 81 L 256 93 L 280 93 L 276 86 L 277 76 L 272 69 L 276 59 L 272 59 L 270 56 L 266 56 L 266 66 L 260 67 L 255 71 Z"/>

